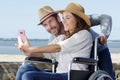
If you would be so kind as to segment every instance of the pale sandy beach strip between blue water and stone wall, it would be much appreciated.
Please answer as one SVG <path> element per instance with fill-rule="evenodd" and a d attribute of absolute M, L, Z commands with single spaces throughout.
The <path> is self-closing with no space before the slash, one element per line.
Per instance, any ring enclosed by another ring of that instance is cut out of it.
<path fill-rule="evenodd" d="M 0 62 L 23 62 L 24 55 L 0 55 Z M 120 53 L 111 54 L 113 63 L 120 63 Z"/>

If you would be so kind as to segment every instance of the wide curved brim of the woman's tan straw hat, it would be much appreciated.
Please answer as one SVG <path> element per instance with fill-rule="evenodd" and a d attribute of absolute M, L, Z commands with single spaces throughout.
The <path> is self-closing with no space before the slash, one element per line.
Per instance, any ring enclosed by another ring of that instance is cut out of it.
<path fill-rule="evenodd" d="M 89 27 L 91 26 L 91 23 L 90 23 L 90 20 L 89 20 L 88 16 L 85 15 L 83 12 L 76 11 L 76 10 L 74 10 L 74 12 L 70 11 L 70 10 L 57 10 L 55 12 L 63 14 L 63 12 L 65 12 L 65 11 L 71 12 L 73 14 L 76 14 L 77 16 L 79 16 L 80 18 L 82 18 L 86 22 L 86 24 L 89 25 Z"/>

